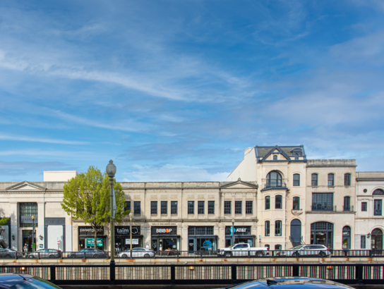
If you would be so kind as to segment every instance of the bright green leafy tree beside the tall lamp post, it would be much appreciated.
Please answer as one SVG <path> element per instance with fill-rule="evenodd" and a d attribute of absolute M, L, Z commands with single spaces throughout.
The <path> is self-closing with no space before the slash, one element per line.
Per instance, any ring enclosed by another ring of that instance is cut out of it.
<path fill-rule="evenodd" d="M 124 210 L 125 198 L 123 188 L 114 180 L 116 195 L 115 221 L 121 223 L 129 211 Z M 106 225 L 110 217 L 110 184 L 107 173 L 90 166 L 87 173 L 80 173 L 68 180 L 64 185 L 64 199 L 61 207 L 75 220 L 84 220 L 84 223 L 95 230 L 94 247 L 97 246 L 97 229 Z M 111 248 L 113 250 L 113 248 Z"/>

